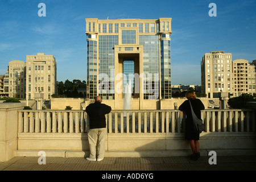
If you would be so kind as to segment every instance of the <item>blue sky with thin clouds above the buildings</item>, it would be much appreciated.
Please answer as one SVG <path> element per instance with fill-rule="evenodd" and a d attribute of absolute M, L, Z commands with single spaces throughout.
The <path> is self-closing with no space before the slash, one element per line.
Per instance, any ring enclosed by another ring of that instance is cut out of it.
<path fill-rule="evenodd" d="M 46 17 L 39 17 L 39 3 Z M 209 16 L 216 3 L 217 16 Z M 0 0 L 0 75 L 38 52 L 57 61 L 57 81 L 86 80 L 85 18 L 172 18 L 172 84 L 201 84 L 204 53 L 256 60 L 256 1 Z"/>

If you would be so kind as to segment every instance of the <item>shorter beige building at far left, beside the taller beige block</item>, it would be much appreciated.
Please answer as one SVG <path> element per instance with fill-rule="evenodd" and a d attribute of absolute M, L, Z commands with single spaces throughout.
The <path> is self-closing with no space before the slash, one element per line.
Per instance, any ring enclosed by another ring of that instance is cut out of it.
<path fill-rule="evenodd" d="M 26 62 L 13 60 L 3 78 L 3 96 L 26 98 Z"/>

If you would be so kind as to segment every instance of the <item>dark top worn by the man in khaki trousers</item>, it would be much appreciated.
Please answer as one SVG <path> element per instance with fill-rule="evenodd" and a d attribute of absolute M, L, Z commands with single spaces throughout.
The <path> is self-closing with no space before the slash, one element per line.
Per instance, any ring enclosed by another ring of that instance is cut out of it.
<path fill-rule="evenodd" d="M 111 107 L 100 102 L 94 102 L 89 104 L 86 109 L 86 113 L 89 115 L 89 127 L 90 129 L 101 129 L 106 127 L 105 114 L 110 113 Z"/>

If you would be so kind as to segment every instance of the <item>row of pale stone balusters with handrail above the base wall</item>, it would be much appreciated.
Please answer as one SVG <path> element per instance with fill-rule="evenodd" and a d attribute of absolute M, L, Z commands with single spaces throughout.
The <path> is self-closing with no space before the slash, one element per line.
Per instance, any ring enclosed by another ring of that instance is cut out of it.
<path fill-rule="evenodd" d="M 19 110 L 19 133 L 86 133 L 84 110 Z M 204 132 L 255 132 L 251 109 L 201 111 Z M 179 110 L 112 110 L 106 115 L 108 133 L 183 133 L 185 114 Z"/>

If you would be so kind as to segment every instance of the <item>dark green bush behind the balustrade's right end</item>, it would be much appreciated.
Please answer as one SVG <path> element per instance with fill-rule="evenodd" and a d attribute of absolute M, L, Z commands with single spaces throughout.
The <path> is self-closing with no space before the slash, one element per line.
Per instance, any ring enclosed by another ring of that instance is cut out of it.
<path fill-rule="evenodd" d="M 244 109 L 246 108 L 246 102 L 255 101 L 251 94 L 243 93 L 241 96 L 229 98 L 228 105 L 233 109 Z"/>

